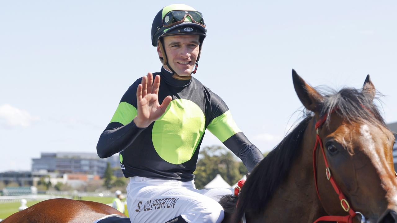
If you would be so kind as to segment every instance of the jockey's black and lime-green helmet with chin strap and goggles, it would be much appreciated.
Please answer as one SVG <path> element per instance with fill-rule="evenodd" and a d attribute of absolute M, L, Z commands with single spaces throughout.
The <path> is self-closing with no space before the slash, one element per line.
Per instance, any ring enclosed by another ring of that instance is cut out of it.
<path fill-rule="evenodd" d="M 164 58 L 160 58 L 160 60 L 164 65 L 168 65 L 161 37 L 189 34 L 200 35 L 200 45 L 196 60 L 197 69 L 197 62 L 200 58 L 202 42 L 206 37 L 206 32 L 207 29 L 200 12 L 185 4 L 172 4 L 162 8 L 154 17 L 152 23 L 152 45 L 160 45 L 160 50 L 164 55 Z M 168 65 L 168 67 L 170 66 Z M 193 72 L 195 73 L 195 71 Z"/>

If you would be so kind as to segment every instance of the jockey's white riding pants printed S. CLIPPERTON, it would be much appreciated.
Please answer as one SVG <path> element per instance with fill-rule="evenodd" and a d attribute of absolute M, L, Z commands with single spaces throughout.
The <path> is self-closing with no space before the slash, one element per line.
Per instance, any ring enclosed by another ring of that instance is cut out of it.
<path fill-rule="evenodd" d="M 179 215 L 187 222 L 220 223 L 224 211 L 220 198 L 231 188 L 198 190 L 194 181 L 130 177 L 127 209 L 131 223 L 164 223 Z"/>

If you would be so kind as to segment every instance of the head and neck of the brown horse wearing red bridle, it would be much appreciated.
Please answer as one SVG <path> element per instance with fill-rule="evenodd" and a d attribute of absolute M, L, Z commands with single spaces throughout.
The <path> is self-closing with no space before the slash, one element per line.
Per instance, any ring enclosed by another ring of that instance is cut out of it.
<path fill-rule="evenodd" d="M 303 120 L 254 168 L 240 195 L 220 201 L 224 223 L 396 223 L 395 136 L 362 89 L 324 95 L 295 70 Z M 327 216 L 331 215 L 331 216 Z"/>

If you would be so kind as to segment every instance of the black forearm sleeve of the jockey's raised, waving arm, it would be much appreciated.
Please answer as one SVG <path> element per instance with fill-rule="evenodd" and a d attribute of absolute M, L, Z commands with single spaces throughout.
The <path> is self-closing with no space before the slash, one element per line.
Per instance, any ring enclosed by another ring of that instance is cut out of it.
<path fill-rule="evenodd" d="M 116 127 L 118 126 L 118 127 Z M 137 138 L 145 128 L 139 128 L 131 121 L 127 125 L 112 122 L 100 135 L 96 152 L 100 158 L 107 158 L 123 151 Z"/>

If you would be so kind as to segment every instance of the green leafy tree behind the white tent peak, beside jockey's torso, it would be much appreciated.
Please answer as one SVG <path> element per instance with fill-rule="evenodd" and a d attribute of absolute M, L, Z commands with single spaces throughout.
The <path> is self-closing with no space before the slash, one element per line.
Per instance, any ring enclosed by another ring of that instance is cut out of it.
<path fill-rule="evenodd" d="M 194 172 L 196 187 L 203 188 L 218 173 L 229 185 L 237 183 L 242 177 L 239 171 L 239 162 L 229 150 L 220 146 L 202 148 Z"/>

